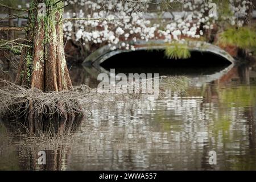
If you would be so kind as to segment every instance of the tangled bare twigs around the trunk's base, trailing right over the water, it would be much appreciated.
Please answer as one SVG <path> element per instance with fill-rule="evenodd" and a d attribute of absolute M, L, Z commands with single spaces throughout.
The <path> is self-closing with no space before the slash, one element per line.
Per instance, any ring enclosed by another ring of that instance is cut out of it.
<path fill-rule="evenodd" d="M 154 78 L 151 79 L 152 82 Z M 146 80 L 150 81 L 150 80 Z M 15 85 L 9 81 L 3 82 L 0 88 L 0 116 L 12 115 L 22 117 L 27 114 L 42 114 L 44 117 L 53 115 L 67 116 L 67 113 L 90 115 L 90 111 L 96 107 L 108 107 L 115 102 L 129 102 L 145 98 L 143 93 L 110 93 L 98 92 L 98 89 L 89 88 L 86 85 L 77 86 L 73 90 L 61 92 L 42 92 L 38 89 L 29 89 Z M 159 77 L 159 97 L 176 92 L 181 94 L 187 86 L 185 77 Z M 152 83 L 154 85 L 154 83 Z M 129 85 L 127 85 L 129 86 Z M 134 89 L 141 90 L 142 84 L 135 85 Z M 138 91 L 137 90 L 137 91 Z M 152 96 L 152 95 L 151 95 Z M 152 98 L 152 97 L 151 97 Z"/>

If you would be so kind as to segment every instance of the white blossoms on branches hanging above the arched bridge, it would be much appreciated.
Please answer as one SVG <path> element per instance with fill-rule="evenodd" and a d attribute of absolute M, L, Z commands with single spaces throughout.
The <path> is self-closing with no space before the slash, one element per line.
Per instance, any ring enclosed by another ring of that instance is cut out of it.
<path fill-rule="evenodd" d="M 65 16 L 75 21 L 64 23 L 64 36 L 80 42 L 86 50 L 106 44 L 112 50 L 134 49 L 137 40 L 160 39 L 171 43 L 200 39 L 216 24 L 243 26 L 252 5 L 246 0 L 72 0 L 66 3 L 73 9 Z"/>

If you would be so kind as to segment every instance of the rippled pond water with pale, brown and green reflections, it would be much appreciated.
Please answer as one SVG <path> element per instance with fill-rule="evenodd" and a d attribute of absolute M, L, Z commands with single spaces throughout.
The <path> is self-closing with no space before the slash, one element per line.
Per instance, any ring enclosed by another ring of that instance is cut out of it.
<path fill-rule="evenodd" d="M 71 75 L 76 85 L 97 84 L 93 69 Z M 187 76 L 184 96 L 93 109 L 67 135 L 28 135 L 1 123 L 0 169 L 256 170 L 255 65 Z M 216 165 L 208 162 L 212 150 Z"/>

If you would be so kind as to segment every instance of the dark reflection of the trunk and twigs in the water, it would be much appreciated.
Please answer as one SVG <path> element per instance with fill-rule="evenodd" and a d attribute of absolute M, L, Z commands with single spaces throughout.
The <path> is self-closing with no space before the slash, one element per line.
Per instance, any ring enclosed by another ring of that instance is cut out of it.
<path fill-rule="evenodd" d="M 5 137 L 10 139 L 5 147 L 12 148 L 16 153 L 15 169 L 65 170 L 73 143 L 73 133 L 79 129 L 81 121 L 81 116 L 60 121 L 38 119 L 31 126 L 31 122 L 3 119 L 1 125 L 6 127 L 5 134 L 8 136 Z M 46 152 L 45 165 L 38 164 L 39 151 Z"/>

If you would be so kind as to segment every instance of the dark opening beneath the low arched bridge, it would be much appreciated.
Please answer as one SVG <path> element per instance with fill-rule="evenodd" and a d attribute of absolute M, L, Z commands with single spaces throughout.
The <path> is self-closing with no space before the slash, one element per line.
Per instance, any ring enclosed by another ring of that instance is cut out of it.
<path fill-rule="evenodd" d="M 189 59 L 168 59 L 164 50 L 122 52 L 101 63 L 115 73 L 159 73 L 159 75 L 210 75 L 228 67 L 230 61 L 211 52 L 192 51 Z"/>

